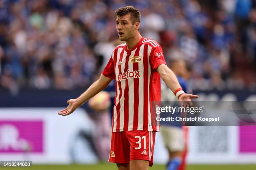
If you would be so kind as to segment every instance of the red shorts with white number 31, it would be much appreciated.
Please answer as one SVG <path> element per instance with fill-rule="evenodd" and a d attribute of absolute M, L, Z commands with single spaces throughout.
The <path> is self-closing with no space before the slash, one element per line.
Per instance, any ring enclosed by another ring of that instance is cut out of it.
<path fill-rule="evenodd" d="M 108 161 L 130 163 L 130 160 L 148 160 L 149 166 L 152 166 L 155 136 L 155 131 L 112 132 Z"/>

